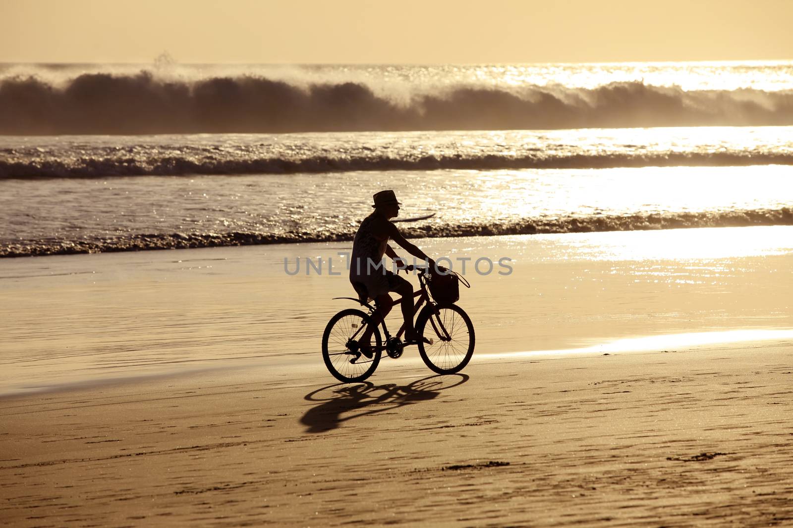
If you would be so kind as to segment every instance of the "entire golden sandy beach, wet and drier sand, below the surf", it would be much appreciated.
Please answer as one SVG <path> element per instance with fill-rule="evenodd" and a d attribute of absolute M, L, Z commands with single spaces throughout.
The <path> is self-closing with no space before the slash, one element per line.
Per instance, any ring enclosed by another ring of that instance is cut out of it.
<path fill-rule="evenodd" d="M 0 519 L 785 526 L 791 229 L 416 241 L 510 259 L 465 272 L 473 360 L 348 385 L 349 243 L 2 260 Z"/>

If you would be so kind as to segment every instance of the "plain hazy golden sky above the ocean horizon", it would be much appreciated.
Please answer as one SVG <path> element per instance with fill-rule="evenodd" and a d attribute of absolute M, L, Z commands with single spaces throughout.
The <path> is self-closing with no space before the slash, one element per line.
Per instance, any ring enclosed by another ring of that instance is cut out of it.
<path fill-rule="evenodd" d="M 0 0 L 0 62 L 793 59 L 793 0 Z"/>

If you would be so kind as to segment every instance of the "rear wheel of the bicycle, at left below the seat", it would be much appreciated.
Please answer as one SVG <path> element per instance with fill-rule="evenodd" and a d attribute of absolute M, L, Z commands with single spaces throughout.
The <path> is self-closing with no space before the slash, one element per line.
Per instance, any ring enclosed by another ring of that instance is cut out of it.
<path fill-rule="evenodd" d="M 374 354 L 367 359 L 358 349 L 358 339 L 372 318 L 361 310 L 342 310 L 328 321 L 322 334 L 322 359 L 325 367 L 340 382 L 362 382 L 369 378 L 380 363 L 381 338 L 377 326 L 372 331 Z"/>

